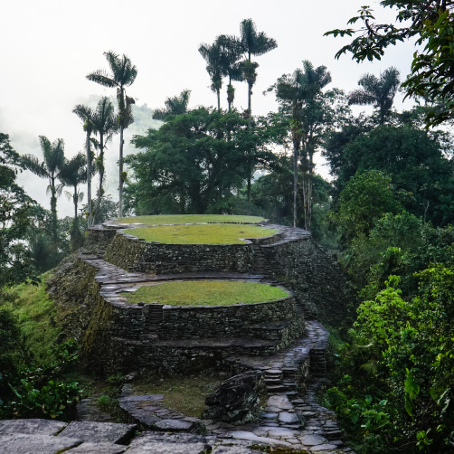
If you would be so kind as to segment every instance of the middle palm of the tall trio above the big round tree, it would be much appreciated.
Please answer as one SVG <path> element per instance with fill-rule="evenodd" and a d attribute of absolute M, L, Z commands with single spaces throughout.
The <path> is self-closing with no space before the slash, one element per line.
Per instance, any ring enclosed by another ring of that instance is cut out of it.
<path fill-rule="evenodd" d="M 222 34 L 216 38 L 216 45 L 219 45 L 221 49 L 222 75 L 229 78 L 227 104 L 230 112 L 235 99 L 235 89 L 232 85 L 232 80 L 242 80 L 241 64 L 239 62 L 242 50 L 241 43 L 235 36 Z"/>

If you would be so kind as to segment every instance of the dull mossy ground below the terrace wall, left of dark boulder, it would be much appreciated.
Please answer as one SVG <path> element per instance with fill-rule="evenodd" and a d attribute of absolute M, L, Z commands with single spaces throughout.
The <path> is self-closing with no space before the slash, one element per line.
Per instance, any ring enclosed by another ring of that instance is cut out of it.
<path fill-rule="evenodd" d="M 164 394 L 166 407 L 187 416 L 200 417 L 205 409 L 206 397 L 226 378 L 225 374 L 211 370 L 203 371 L 203 374 L 149 377 L 134 385 L 134 393 Z"/>

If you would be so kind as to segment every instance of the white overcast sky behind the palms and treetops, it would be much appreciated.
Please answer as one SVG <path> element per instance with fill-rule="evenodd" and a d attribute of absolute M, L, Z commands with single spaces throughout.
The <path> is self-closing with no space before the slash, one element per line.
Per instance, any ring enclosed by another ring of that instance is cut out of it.
<path fill-rule="evenodd" d="M 377 0 L 365 3 L 373 6 L 378 18 L 393 20 L 395 14 L 383 11 Z M 214 105 L 215 94 L 198 47 L 213 43 L 219 34 L 239 34 L 241 20 L 246 18 L 278 42 L 277 49 L 256 58 L 260 67 L 252 97 L 254 114 L 276 109 L 274 96 L 264 97 L 262 91 L 283 73 L 298 68 L 302 60 L 325 65 L 333 79 L 330 87 L 346 92 L 356 88 L 364 72 L 378 75 L 392 65 L 403 79 L 410 71 L 410 43 L 390 48 L 383 61 L 357 64 L 349 56 L 334 59 L 345 41 L 323 33 L 345 28 L 361 5 L 364 0 L 4 1 L 0 131 L 10 135 L 20 153 L 42 156 L 39 135 L 51 140 L 62 137 L 67 156 L 80 151 L 84 133 L 71 110 L 90 95 L 115 94 L 85 79 L 91 71 L 108 69 L 102 54 L 108 50 L 126 53 L 137 66 L 137 80 L 128 95 L 138 105 L 162 107 L 167 97 L 184 89 L 192 90 L 191 107 Z M 235 86 L 235 107 L 245 109 L 246 84 Z M 396 108 L 402 109 L 402 96 L 398 98 Z M 226 107 L 225 92 L 222 107 Z M 117 149 L 114 141 L 109 150 L 118 153 Z M 317 171 L 326 175 L 322 166 Z M 109 178 L 115 182 L 114 175 Z M 49 208 L 44 180 L 27 172 L 20 182 Z M 59 215 L 71 215 L 71 203 L 61 197 L 58 210 Z"/>

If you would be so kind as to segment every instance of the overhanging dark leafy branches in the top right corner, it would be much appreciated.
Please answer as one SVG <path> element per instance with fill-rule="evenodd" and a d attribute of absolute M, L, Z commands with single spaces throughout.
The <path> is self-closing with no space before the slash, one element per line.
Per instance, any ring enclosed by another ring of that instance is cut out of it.
<path fill-rule="evenodd" d="M 356 61 L 381 60 L 389 45 L 416 37 L 416 43 L 421 47 L 413 54 L 411 76 L 402 87 L 407 91 L 407 96 L 424 96 L 434 103 L 444 105 L 443 109 L 431 110 L 427 116 L 428 125 L 437 125 L 453 118 L 454 33 L 449 2 L 382 0 L 380 5 L 393 8 L 397 13 L 395 23 L 402 26 L 376 24 L 373 10 L 364 5 L 358 11 L 359 14 L 348 21 L 348 24 L 363 24 L 361 28 L 336 29 L 325 33 L 335 37 L 355 35 L 351 43 L 336 53 L 336 58 L 345 52 L 351 52 Z"/>

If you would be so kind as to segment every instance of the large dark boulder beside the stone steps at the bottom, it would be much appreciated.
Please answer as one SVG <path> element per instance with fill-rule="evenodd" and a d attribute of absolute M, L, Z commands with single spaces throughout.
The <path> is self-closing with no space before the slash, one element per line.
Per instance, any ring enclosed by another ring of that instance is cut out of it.
<path fill-rule="evenodd" d="M 263 374 L 250 371 L 235 375 L 222 382 L 205 403 L 208 409 L 202 418 L 213 421 L 242 424 L 259 416 L 260 398 L 263 386 Z"/>

